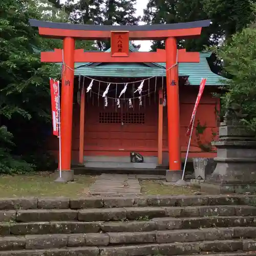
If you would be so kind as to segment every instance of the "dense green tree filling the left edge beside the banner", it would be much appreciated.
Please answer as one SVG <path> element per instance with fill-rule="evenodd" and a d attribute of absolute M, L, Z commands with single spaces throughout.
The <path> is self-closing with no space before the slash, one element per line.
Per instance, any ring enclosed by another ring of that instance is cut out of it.
<path fill-rule="evenodd" d="M 42 134 L 50 127 L 49 77 L 58 78 L 56 65 L 40 62 L 34 46 L 48 48 L 29 18 L 40 19 L 41 5 L 33 0 L 0 2 L 0 172 L 32 169 L 24 159 L 43 148 Z M 15 145 L 14 145 L 15 143 Z M 18 157 L 17 157 L 18 156 Z"/>

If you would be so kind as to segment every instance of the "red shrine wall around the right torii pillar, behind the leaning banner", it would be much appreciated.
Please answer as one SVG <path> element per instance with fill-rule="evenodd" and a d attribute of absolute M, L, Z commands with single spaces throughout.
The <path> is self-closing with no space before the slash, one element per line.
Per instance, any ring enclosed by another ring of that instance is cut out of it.
<path fill-rule="evenodd" d="M 189 136 L 186 136 L 188 124 L 193 112 L 198 87 L 181 87 L 180 88 L 180 136 L 181 136 L 181 155 L 185 157 Z M 189 147 L 189 158 L 193 157 L 216 157 L 215 152 L 206 152 L 207 148 L 214 151 L 215 148 L 210 148 L 210 142 L 218 139 L 218 113 L 220 109 L 219 99 L 212 97 L 212 88 L 205 88 L 205 91 L 200 100 L 196 113 L 193 135 Z M 167 140 L 167 113 L 164 108 L 163 114 L 163 152 L 168 151 Z M 201 149 L 203 148 L 203 150 Z"/>

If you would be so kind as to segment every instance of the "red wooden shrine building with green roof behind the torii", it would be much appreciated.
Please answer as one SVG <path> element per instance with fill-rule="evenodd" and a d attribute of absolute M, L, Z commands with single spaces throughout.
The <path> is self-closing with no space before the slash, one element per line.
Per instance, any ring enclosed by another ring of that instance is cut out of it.
<path fill-rule="evenodd" d="M 110 51 L 111 49 L 107 52 Z M 130 45 L 130 51 L 135 52 L 137 49 Z M 223 85 L 220 82 L 223 77 L 210 70 L 207 62 L 210 55 L 210 52 L 200 53 L 198 63 L 179 63 L 180 143 L 183 160 L 189 139 L 186 131 L 202 77 L 207 78 L 207 81 L 196 114 L 188 158 L 217 156 L 210 142 L 217 139 L 219 99 L 213 97 L 212 93 L 217 92 L 218 87 Z M 95 79 L 92 89 L 86 93 L 92 79 Z M 139 102 L 139 94 L 134 93 L 141 80 L 144 80 L 142 105 Z M 109 83 L 111 85 L 107 94 L 108 106 L 105 106 L 102 94 Z M 125 83 L 129 84 L 124 95 L 120 97 L 119 108 L 116 99 Z M 165 63 L 75 63 L 73 164 L 80 163 L 88 168 L 102 169 L 153 169 L 158 166 L 167 168 L 168 129 L 165 88 Z M 81 96 L 85 101 L 83 123 L 80 122 L 81 107 L 83 108 Z M 130 98 L 132 106 L 129 105 Z M 81 125 L 84 125 L 83 134 L 80 134 Z M 159 137 L 162 137 L 162 140 L 159 141 Z M 49 138 L 49 150 L 57 159 L 58 139 L 55 136 Z M 83 157 L 79 160 L 81 150 Z M 144 157 L 144 163 L 131 163 L 130 152 L 140 153 Z"/>

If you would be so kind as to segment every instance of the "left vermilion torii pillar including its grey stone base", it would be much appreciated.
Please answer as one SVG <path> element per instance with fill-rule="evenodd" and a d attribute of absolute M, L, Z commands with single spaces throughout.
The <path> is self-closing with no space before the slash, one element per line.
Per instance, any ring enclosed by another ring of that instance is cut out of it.
<path fill-rule="evenodd" d="M 65 37 L 63 39 L 63 60 L 61 79 L 60 102 L 60 143 L 61 143 L 61 170 L 62 179 L 74 180 L 74 172 L 71 170 L 72 154 L 72 119 L 73 119 L 73 93 L 74 93 L 74 54 L 75 39 Z"/>

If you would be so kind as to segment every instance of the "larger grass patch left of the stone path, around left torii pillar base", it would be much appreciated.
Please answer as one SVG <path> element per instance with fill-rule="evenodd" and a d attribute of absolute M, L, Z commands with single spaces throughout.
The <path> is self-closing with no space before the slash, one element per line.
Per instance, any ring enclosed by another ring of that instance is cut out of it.
<path fill-rule="evenodd" d="M 0 176 L 0 197 L 69 197 L 85 196 L 96 176 L 77 175 L 75 182 L 54 182 L 52 173 Z"/>

